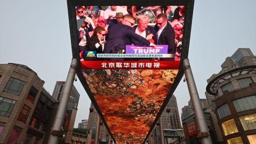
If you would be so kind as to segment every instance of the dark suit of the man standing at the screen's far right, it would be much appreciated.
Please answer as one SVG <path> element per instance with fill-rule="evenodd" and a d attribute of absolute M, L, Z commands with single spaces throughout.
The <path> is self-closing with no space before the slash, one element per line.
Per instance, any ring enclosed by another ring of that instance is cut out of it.
<path fill-rule="evenodd" d="M 155 25 L 155 30 L 156 31 L 159 30 L 157 25 Z M 161 58 L 161 60 L 174 60 L 174 55 L 176 52 L 175 33 L 169 22 L 167 22 L 167 25 L 165 26 L 162 33 L 160 34 L 157 44 L 168 45 L 168 53 L 172 54 L 173 56 L 173 58 Z"/>

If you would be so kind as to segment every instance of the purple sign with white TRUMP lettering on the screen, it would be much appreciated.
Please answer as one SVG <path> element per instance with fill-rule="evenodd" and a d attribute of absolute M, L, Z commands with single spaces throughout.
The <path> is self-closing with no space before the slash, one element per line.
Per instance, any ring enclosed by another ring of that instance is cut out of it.
<path fill-rule="evenodd" d="M 126 45 L 126 54 L 167 54 L 168 45 L 139 46 Z"/>

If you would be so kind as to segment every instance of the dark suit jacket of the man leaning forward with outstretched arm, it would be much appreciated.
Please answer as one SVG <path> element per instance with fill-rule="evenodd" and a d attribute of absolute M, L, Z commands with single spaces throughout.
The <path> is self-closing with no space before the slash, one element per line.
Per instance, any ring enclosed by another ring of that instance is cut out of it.
<path fill-rule="evenodd" d="M 131 27 L 117 23 L 109 29 L 103 53 L 117 53 L 125 50 L 126 45 L 132 44 L 132 39 L 137 39 L 143 45 L 150 45 L 146 38 L 136 34 Z"/>

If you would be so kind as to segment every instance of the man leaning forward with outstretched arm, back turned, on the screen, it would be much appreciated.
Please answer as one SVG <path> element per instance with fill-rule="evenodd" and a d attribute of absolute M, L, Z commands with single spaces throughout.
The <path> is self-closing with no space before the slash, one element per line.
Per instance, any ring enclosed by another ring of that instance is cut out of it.
<path fill-rule="evenodd" d="M 137 39 L 138 42 L 147 46 L 155 46 L 146 38 L 138 35 L 132 29 L 135 19 L 130 14 L 124 15 L 122 23 L 117 23 L 108 31 L 107 43 L 103 53 L 125 53 L 126 45 L 132 44 L 132 39 Z M 113 60 L 123 60 L 123 58 L 115 58 Z"/>

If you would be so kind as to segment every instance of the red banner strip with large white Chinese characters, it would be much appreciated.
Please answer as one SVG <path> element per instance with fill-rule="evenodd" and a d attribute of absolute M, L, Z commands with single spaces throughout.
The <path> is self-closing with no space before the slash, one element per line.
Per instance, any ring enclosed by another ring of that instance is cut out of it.
<path fill-rule="evenodd" d="M 81 61 L 82 69 L 179 69 L 180 61 Z"/>

